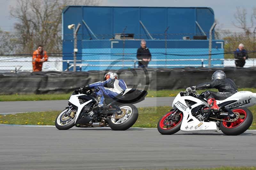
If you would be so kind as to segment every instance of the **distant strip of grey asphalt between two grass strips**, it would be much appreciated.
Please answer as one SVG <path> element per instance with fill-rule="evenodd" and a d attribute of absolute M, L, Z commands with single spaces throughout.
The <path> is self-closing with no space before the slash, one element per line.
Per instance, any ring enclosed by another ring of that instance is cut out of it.
<path fill-rule="evenodd" d="M 146 97 L 136 107 L 172 106 L 175 97 Z M 0 114 L 64 110 L 68 100 L 0 102 Z"/>

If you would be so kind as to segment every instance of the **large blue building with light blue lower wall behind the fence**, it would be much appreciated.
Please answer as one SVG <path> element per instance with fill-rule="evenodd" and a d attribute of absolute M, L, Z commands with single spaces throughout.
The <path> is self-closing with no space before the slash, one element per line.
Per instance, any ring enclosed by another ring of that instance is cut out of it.
<path fill-rule="evenodd" d="M 123 60 L 136 59 L 141 39 L 147 41 L 152 59 L 161 60 L 151 61 L 152 67 L 200 66 L 200 59 L 208 58 L 214 12 L 207 7 L 67 6 L 62 12 L 63 60 L 73 59 L 70 54 L 74 49 L 73 30 L 68 29 L 68 25 L 78 23 L 81 27 L 77 35 L 77 60 L 89 60 L 77 62 L 88 64 L 82 67 L 83 71 L 104 70 L 108 65 L 116 65 L 111 69 L 133 66 L 133 61 Z M 133 34 L 132 39 L 115 39 L 115 34 L 123 33 Z M 196 40 L 196 35 L 205 35 L 206 39 Z M 212 35 L 212 54 L 218 54 L 212 58 L 224 58 L 219 54 L 224 52 L 223 40 L 215 40 L 214 31 Z M 199 60 L 170 61 L 172 59 Z M 221 61 L 212 61 L 212 64 L 221 64 Z M 63 63 L 63 69 L 66 68 L 67 64 Z"/>

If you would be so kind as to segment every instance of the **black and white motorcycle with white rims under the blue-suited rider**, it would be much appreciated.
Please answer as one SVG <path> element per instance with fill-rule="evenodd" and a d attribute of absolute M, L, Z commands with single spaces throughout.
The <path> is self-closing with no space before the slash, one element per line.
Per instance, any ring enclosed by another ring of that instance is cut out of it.
<path fill-rule="evenodd" d="M 126 130 L 138 119 L 138 109 L 133 105 L 145 99 L 147 91 L 126 89 L 115 98 L 105 98 L 106 107 L 99 108 L 96 94 L 89 89 L 84 94 L 75 90 L 68 100 L 68 107 L 55 120 L 59 130 L 73 126 L 110 127 L 112 130 Z"/>

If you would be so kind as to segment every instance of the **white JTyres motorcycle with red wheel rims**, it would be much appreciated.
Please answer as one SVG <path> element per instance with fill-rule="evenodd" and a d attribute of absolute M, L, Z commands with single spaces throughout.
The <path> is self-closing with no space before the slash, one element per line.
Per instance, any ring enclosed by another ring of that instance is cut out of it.
<path fill-rule="evenodd" d="M 163 135 L 183 132 L 220 132 L 240 135 L 252 124 L 252 112 L 246 107 L 256 104 L 256 93 L 239 91 L 225 100 L 217 100 L 220 111 L 209 110 L 204 93 L 180 92 L 172 110 L 159 120 L 157 129 Z"/>

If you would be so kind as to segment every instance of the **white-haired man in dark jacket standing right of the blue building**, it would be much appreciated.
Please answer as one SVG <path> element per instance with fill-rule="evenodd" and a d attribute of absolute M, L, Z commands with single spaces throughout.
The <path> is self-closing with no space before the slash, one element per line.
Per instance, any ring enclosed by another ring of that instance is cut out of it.
<path fill-rule="evenodd" d="M 244 50 L 244 44 L 239 44 L 238 49 L 235 51 L 235 58 L 238 59 L 235 61 L 237 67 L 244 67 L 245 59 L 248 59 L 248 54 Z"/>

